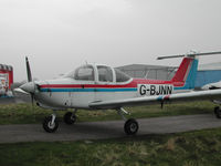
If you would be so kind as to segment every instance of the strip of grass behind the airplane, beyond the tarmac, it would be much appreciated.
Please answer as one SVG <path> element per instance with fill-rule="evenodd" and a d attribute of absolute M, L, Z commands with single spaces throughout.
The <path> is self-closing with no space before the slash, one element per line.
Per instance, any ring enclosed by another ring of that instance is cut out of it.
<path fill-rule="evenodd" d="M 160 105 L 147 105 L 126 107 L 125 110 L 131 113 L 131 117 L 159 117 L 159 116 L 175 116 L 175 115 L 191 115 L 191 114 L 204 114 L 213 113 L 214 104 L 211 102 L 192 102 L 192 103 L 179 103 L 179 104 L 166 104 L 164 108 Z M 57 111 L 60 120 L 65 112 Z M 8 104 L 0 105 L 0 124 L 31 124 L 40 123 L 45 116 L 52 114 L 50 110 L 43 110 L 34 106 L 32 110 L 31 104 Z M 78 110 L 78 122 L 92 122 L 92 121 L 112 121 L 122 120 L 116 111 L 84 111 Z"/>

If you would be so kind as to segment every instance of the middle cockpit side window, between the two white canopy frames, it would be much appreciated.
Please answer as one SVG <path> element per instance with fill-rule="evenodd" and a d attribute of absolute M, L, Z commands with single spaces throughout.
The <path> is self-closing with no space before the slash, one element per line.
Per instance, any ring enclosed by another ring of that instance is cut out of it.
<path fill-rule="evenodd" d="M 101 82 L 113 82 L 113 72 L 109 66 L 98 65 L 98 81 Z"/>

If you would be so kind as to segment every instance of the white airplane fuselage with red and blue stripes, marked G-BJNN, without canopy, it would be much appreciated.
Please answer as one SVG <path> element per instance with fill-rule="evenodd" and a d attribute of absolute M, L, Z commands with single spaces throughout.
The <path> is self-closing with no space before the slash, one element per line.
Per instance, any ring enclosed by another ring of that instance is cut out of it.
<path fill-rule="evenodd" d="M 187 92 L 183 83 L 171 81 L 130 79 L 125 83 L 82 82 L 73 79 L 57 79 L 39 82 L 35 95 L 43 105 L 59 108 L 91 108 L 90 103 L 125 100 L 140 96 L 170 95 Z"/>

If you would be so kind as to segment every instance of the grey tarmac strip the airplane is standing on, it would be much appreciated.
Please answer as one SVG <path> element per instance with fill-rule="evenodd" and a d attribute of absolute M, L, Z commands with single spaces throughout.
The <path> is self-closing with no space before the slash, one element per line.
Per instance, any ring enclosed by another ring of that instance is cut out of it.
<path fill-rule="evenodd" d="M 221 127 L 221 120 L 212 114 L 140 118 L 138 136 L 180 133 Z M 46 133 L 42 124 L 0 125 L 0 143 L 92 141 L 126 137 L 124 121 L 60 123 L 55 133 Z M 136 136 L 134 136 L 136 138 Z"/>

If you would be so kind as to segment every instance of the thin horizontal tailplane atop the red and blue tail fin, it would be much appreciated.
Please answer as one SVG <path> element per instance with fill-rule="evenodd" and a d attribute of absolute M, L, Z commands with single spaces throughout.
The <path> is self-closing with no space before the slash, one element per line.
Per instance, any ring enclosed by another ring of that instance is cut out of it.
<path fill-rule="evenodd" d="M 183 56 L 196 58 L 196 56 L 212 55 L 212 54 L 221 54 L 221 52 L 187 53 L 187 54 L 178 54 L 178 55 L 169 55 L 169 56 L 158 56 L 157 60 L 183 58 Z"/>

